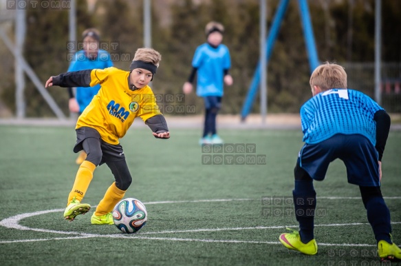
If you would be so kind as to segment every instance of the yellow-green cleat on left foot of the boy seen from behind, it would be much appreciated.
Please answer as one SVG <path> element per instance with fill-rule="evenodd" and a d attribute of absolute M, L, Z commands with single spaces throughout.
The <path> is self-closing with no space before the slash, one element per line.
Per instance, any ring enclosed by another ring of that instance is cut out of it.
<path fill-rule="evenodd" d="M 318 253 L 318 245 L 314 239 L 304 244 L 301 241 L 301 236 L 299 236 L 298 231 L 290 228 L 287 229 L 292 231 L 292 233 L 281 234 L 279 237 L 279 240 L 284 247 L 297 250 L 306 255 L 314 255 Z"/>

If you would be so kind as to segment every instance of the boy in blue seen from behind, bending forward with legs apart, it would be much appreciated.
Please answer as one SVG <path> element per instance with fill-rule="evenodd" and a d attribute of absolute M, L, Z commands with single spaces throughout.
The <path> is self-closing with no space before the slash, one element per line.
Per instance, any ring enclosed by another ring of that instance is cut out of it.
<path fill-rule="evenodd" d="M 303 141 L 294 169 L 292 191 L 299 232 L 281 234 L 280 242 L 303 254 L 317 253 L 314 239 L 316 192 L 313 181 L 325 178 L 329 163 L 339 158 L 348 183 L 358 185 L 367 219 L 382 260 L 401 258 L 391 240 L 390 212 L 380 190 L 381 161 L 389 135 L 390 117 L 369 96 L 347 90 L 347 74 L 340 65 L 324 63 L 310 78 L 313 97 L 301 107 Z"/>

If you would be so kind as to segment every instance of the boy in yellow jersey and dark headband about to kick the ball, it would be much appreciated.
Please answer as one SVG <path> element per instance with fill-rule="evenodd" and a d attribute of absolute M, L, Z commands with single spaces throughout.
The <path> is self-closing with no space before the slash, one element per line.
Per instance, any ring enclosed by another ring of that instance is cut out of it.
<path fill-rule="evenodd" d="M 65 88 L 101 85 L 98 94 L 76 123 L 77 141 L 74 152 L 84 150 L 87 158 L 80 165 L 69 193 L 64 212 L 66 220 L 73 221 L 79 214 L 89 211 L 91 206 L 80 201 L 87 192 L 96 166 L 106 163 L 116 181 L 111 184 L 96 207 L 96 212 L 91 216 L 91 223 L 113 224 L 111 211 L 124 197 L 132 181 L 118 139 L 127 133 L 137 116 L 151 128 L 153 136 L 169 139 L 170 132 L 166 120 L 148 86 L 161 59 L 159 52 L 151 48 L 140 48 L 131 63 L 131 71 L 113 67 L 81 70 L 51 76 L 46 81 L 46 88 L 53 85 Z"/>

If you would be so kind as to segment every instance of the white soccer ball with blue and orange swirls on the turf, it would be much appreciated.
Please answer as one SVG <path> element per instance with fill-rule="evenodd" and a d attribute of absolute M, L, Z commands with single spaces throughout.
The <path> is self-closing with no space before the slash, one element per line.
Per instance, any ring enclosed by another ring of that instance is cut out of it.
<path fill-rule="evenodd" d="M 123 233 L 136 233 L 147 223 L 147 208 L 136 198 L 124 198 L 113 209 L 114 225 Z"/>

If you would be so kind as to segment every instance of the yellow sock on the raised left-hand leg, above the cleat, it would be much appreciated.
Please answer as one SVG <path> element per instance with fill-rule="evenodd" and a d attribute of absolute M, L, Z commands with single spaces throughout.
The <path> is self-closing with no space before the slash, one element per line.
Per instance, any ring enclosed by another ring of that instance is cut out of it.
<path fill-rule="evenodd" d="M 72 201 L 74 196 L 78 201 L 82 201 L 89 187 L 89 183 L 91 183 L 91 180 L 94 177 L 95 168 L 96 165 L 89 161 L 83 161 L 83 163 L 81 163 L 78 172 L 76 173 L 72 190 L 69 192 L 67 205 Z"/>

